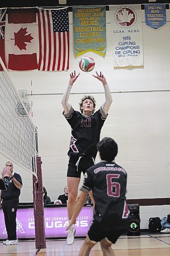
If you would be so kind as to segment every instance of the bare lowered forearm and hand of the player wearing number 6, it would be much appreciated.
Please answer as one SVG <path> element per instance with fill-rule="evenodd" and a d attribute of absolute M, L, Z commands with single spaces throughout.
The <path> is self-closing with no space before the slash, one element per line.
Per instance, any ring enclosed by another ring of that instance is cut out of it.
<path fill-rule="evenodd" d="M 85 201 L 86 201 L 86 196 L 87 196 L 87 193 L 85 193 L 84 191 L 81 191 L 80 195 L 78 196 L 77 198 L 77 201 L 76 201 L 76 206 L 75 206 L 75 209 L 74 209 L 74 213 L 71 217 L 71 220 L 69 222 L 69 225 L 67 227 L 66 230 L 68 230 L 68 228 L 72 225 L 72 224 L 75 224 L 76 223 L 76 218 L 78 217 Z"/>

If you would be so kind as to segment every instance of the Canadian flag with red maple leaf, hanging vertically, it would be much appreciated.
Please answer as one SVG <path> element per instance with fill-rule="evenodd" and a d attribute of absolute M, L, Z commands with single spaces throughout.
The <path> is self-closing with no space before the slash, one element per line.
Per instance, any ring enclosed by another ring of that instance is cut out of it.
<path fill-rule="evenodd" d="M 5 27 L 7 69 L 37 69 L 39 39 L 36 12 L 36 8 L 8 9 Z"/>

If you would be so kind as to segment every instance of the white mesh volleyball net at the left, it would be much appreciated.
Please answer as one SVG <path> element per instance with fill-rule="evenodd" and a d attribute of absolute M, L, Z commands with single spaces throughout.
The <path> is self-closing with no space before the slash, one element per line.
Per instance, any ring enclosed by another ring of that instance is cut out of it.
<path fill-rule="evenodd" d="M 32 173 L 37 181 L 36 139 L 34 126 L 25 105 L 17 93 L 0 57 L 0 153 Z M 17 105 L 22 105 L 25 115 L 19 115 Z"/>

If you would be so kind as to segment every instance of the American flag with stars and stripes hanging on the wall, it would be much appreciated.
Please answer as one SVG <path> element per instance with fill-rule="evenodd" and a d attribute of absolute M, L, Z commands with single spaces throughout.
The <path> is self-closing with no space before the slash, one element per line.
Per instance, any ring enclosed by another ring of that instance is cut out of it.
<path fill-rule="evenodd" d="M 38 70 L 69 69 L 68 10 L 38 10 L 39 62 Z"/>

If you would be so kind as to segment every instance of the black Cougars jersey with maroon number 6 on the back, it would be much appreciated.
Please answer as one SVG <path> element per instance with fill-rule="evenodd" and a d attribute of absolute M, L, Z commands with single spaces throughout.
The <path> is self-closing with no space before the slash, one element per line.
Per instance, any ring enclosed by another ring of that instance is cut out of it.
<path fill-rule="evenodd" d="M 126 204 L 127 173 L 115 162 L 102 161 L 84 175 L 81 191 L 92 190 L 95 202 L 94 220 L 103 228 L 126 229 L 130 211 Z"/>

